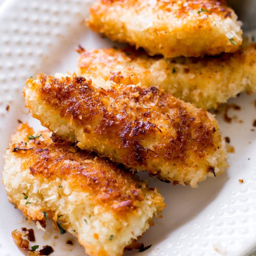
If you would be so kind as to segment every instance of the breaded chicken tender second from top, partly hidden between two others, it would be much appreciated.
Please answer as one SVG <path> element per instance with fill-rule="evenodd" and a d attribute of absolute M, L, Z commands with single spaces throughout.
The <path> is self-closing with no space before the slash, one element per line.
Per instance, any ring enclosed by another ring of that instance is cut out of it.
<path fill-rule="evenodd" d="M 204 58 L 148 57 L 132 49 L 81 49 L 79 74 L 118 84 L 157 85 L 200 108 L 216 108 L 244 90 L 256 91 L 256 44 Z"/>

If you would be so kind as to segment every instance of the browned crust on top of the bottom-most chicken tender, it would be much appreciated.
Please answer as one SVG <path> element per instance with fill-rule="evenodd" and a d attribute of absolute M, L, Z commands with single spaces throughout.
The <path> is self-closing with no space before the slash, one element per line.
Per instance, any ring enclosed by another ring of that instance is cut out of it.
<path fill-rule="evenodd" d="M 143 183 L 136 181 L 131 172 L 58 137 L 53 142 L 49 131 L 34 134 L 27 124 L 20 125 L 19 130 L 23 138 L 20 142 L 12 141 L 10 150 L 15 157 L 25 160 L 22 169 L 29 169 L 37 179 L 65 179 L 71 188 L 88 192 L 98 204 L 116 212 L 137 209 L 137 204 L 143 201 Z M 28 140 L 29 135 L 40 134 Z"/>

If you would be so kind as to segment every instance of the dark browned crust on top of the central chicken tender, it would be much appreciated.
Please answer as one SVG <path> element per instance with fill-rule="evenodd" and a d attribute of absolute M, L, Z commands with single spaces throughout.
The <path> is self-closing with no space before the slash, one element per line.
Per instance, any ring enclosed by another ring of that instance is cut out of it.
<path fill-rule="evenodd" d="M 104 89 L 81 76 L 57 79 L 43 74 L 35 81 L 29 79 L 30 83 L 47 105 L 58 109 L 61 118 L 75 121 L 86 128 L 85 133 L 107 140 L 122 163 L 132 168 L 140 166 L 156 173 L 148 159 L 157 157 L 185 166 L 189 157 L 197 161 L 221 145 L 220 134 L 215 135 L 218 124 L 206 111 L 154 86 L 113 83 Z M 151 149 L 143 146 L 151 140 Z"/>

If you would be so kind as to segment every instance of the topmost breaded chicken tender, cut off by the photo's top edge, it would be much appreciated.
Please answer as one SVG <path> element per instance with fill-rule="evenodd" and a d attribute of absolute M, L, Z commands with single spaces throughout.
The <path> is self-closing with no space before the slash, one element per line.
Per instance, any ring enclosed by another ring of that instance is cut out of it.
<path fill-rule="evenodd" d="M 226 0 L 99 0 L 87 24 L 166 58 L 235 52 L 242 43 L 241 24 Z"/>

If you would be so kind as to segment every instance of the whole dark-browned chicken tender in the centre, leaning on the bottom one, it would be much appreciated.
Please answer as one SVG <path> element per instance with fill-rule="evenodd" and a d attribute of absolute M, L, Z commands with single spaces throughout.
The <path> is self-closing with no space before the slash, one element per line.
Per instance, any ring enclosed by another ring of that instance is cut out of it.
<path fill-rule="evenodd" d="M 195 187 L 227 166 L 217 120 L 156 87 L 41 74 L 24 96 L 32 116 L 64 140 L 161 180 Z"/>

